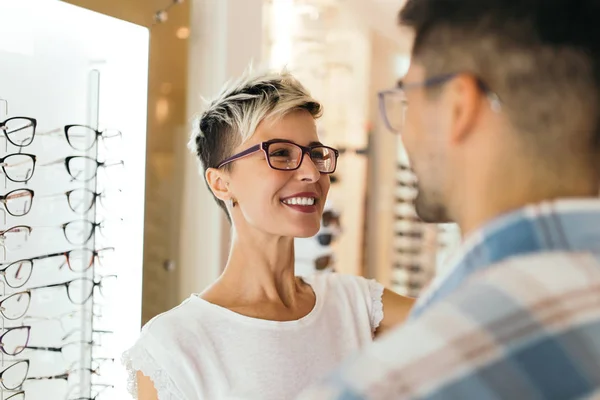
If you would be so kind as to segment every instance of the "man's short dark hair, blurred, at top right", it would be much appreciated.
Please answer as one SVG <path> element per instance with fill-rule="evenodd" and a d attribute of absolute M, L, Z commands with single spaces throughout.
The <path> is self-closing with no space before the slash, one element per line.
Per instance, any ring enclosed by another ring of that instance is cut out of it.
<path fill-rule="evenodd" d="M 572 146 L 593 157 L 599 16 L 599 0 L 408 0 L 399 21 L 414 29 L 413 57 L 428 76 L 472 73 L 535 148 Z"/>

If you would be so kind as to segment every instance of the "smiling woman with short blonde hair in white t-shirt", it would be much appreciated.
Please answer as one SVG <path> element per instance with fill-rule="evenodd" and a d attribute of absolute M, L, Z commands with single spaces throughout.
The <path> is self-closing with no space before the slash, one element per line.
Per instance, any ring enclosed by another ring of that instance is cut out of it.
<path fill-rule="evenodd" d="M 246 76 L 203 113 L 193 143 L 232 224 L 229 259 L 125 353 L 140 400 L 289 399 L 408 313 L 374 281 L 294 274 L 294 238 L 319 230 L 337 164 L 320 115 L 285 72 Z"/>

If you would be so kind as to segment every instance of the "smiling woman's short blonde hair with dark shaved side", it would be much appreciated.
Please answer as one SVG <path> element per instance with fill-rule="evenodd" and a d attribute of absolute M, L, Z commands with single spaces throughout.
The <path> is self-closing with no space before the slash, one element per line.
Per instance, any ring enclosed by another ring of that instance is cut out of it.
<path fill-rule="evenodd" d="M 225 84 L 208 103 L 194 122 L 189 147 L 198 156 L 202 171 L 216 168 L 232 155 L 234 148 L 254 135 L 262 121 L 281 118 L 296 110 L 306 110 L 315 119 L 323 111 L 322 105 L 289 71 L 248 70 L 239 79 Z M 226 210 L 221 200 L 215 200 Z"/>

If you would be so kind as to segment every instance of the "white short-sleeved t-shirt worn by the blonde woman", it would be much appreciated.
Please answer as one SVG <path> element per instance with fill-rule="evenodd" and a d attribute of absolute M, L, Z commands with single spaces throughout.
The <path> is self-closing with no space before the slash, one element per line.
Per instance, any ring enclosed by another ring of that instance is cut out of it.
<path fill-rule="evenodd" d="M 192 295 L 149 321 L 123 355 L 136 397 L 136 371 L 159 400 L 286 400 L 373 340 L 383 287 L 339 274 L 304 278 L 316 295 L 296 321 L 237 314 Z"/>

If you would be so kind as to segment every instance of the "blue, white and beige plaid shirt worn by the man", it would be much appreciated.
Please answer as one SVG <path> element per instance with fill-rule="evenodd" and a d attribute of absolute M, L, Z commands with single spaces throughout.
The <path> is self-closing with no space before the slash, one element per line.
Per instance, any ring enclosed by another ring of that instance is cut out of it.
<path fill-rule="evenodd" d="M 600 200 L 470 235 L 409 322 L 300 398 L 600 398 Z"/>

